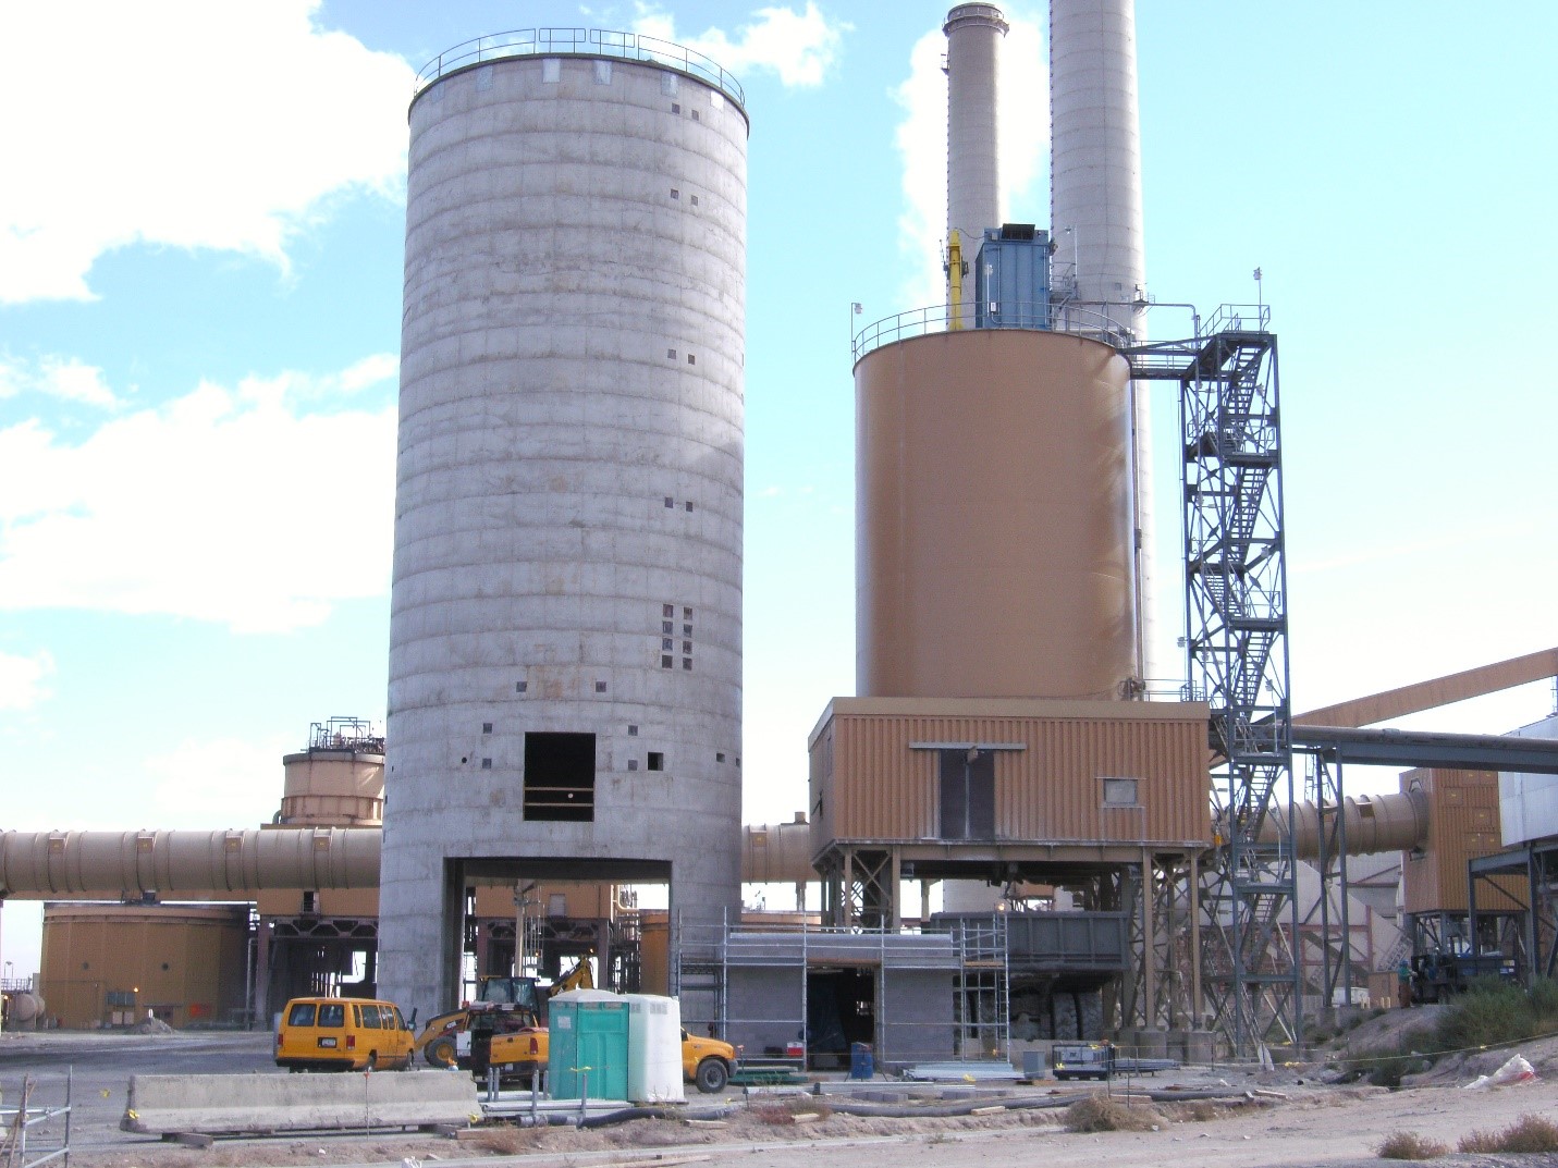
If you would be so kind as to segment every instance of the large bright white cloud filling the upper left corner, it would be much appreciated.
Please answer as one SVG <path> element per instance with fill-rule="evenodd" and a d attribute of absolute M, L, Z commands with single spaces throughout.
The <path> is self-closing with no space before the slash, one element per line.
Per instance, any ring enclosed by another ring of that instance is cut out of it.
<path fill-rule="evenodd" d="M 0 44 L 26 47 L 0 70 L 0 304 L 90 299 L 132 243 L 285 269 L 327 196 L 397 196 L 413 70 L 318 6 L 0 5 Z"/>

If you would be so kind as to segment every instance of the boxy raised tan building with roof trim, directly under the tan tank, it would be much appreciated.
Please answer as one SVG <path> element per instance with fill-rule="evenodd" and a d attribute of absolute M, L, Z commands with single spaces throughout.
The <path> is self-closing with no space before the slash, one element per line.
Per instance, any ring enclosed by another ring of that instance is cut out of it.
<path fill-rule="evenodd" d="M 1200 702 L 835 698 L 812 732 L 812 849 L 834 839 L 939 838 L 938 755 L 996 752 L 996 836 L 1025 843 L 1211 843 L 1207 707 Z M 1136 807 L 1103 783 L 1136 779 Z"/>

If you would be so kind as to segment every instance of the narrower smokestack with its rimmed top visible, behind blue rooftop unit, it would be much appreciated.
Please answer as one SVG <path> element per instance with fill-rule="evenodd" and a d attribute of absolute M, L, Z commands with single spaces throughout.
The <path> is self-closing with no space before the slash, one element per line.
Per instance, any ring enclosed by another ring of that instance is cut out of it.
<path fill-rule="evenodd" d="M 996 5 L 947 12 L 947 234 L 1002 224 L 997 87 L 1006 19 Z M 977 246 L 977 245 L 974 245 Z"/>

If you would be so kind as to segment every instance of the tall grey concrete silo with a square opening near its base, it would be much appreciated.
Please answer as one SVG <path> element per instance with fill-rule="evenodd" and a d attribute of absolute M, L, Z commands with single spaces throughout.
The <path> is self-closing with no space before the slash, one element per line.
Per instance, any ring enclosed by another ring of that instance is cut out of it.
<path fill-rule="evenodd" d="M 467 889 L 740 899 L 746 135 L 622 33 L 450 50 L 411 103 L 382 990 L 456 992 Z"/>

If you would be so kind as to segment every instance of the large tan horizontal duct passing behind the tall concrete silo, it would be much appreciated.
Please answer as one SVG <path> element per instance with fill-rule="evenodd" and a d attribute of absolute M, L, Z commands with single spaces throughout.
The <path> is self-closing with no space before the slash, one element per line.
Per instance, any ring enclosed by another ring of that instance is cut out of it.
<path fill-rule="evenodd" d="M 749 824 L 745 883 L 802 885 L 810 824 Z M 379 888 L 375 827 L 243 832 L 0 832 L 0 897 L 248 900 L 260 889 Z"/>

